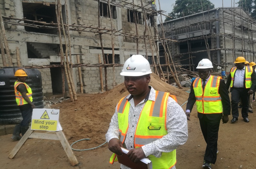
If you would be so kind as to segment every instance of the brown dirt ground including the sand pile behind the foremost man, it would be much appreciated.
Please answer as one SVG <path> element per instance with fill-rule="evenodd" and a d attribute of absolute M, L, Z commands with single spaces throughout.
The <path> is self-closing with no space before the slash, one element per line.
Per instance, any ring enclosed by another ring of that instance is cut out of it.
<path fill-rule="evenodd" d="M 156 75 L 151 76 L 154 89 L 170 92 L 176 95 L 178 103 L 182 105 L 188 99 L 188 93 L 159 80 Z M 114 114 L 119 99 L 126 96 L 124 84 L 114 89 L 97 94 L 79 94 L 78 100 L 72 103 L 70 100 L 54 105 L 52 108 L 60 109 L 60 124 L 69 144 L 83 139 L 73 145 L 74 149 L 88 149 L 105 142 L 105 134 L 109 122 Z M 212 165 L 213 169 L 243 168 L 256 169 L 256 107 L 253 102 L 254 113 L 249 113 L 250 122 L 246 123 L 240 116 L 233 124 L 220 123 L 217 161 Z M 186 104 L 182 106 L 183 110 Z M 241 109 L 240 109 L 241 111 Z M 177 149 L 176 168 L 200 169 L 202 168 L 206 143 L 200 130 L 196 114 L 196 107 L 192 110 L 188 121 L 188 141 Z M 68 157 L 59 141 L 46 139 L 28 139 L 13 159 L 8 155 L 18 141 L 11 139 L 12 135 L 0 136 L 0 168 L 3 169 L 120 169 L 120 164 L 108 163 L 111 152 L 108 145 L 89 151 L 74 151 L 80 166 L 71 166 Z"/>

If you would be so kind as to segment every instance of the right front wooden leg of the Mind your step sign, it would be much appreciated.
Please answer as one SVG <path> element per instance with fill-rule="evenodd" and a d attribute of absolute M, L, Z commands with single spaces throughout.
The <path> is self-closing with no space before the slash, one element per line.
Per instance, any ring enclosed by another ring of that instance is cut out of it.
<path fill-rule="evenodd" d="M 78 164 L 76 156 L 74 155 L 74 153 L 73 153 L 73 151 L 72 151 L 72 149 L 71 149 L 71 147 L 68 143 L 68 140 L 67 140 L 67 138 L 65 137 L 65 135 L 63 133 L 63 131 L 62 130 L 56 131 L 56 134 L 60 139 L 60 143 L 61 143 L 63 149 L 65 150 L 71 165 L 74 166 L 74 165 Z"/>

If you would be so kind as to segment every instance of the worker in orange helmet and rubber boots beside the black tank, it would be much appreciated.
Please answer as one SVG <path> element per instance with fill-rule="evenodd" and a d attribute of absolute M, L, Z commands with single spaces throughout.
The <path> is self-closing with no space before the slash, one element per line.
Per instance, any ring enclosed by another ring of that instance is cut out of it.
<path fill-rule="evenodd" d="M 32 118 L 32 110 L 36 106 L 32 103 L 32 90 L 25 83 L 26 77 L 28 76 L 24 70 L 17 70 L 14 74 L 17 77 L 17 81 L 14 83 L 14 91 L 16 96 L 16 103 L 20 108 L 23 120 L 20 124 L 17 124 L 13 130 L 12 139 L 20 140 L 21 135 L 23 136 L 29 128 L 29 122 Z"/>

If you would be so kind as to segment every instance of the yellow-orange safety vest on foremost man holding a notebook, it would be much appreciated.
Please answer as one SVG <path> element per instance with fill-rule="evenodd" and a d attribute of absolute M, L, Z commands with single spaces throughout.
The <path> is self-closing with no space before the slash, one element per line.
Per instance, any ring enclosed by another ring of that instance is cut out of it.
<path fill-rule="evenodd" d="M 136 127 L 134 136 L 134 147 L 138 148 L 143 145 L 152 143 L 157 139 L 167 135 L 166 129 L 166 111 L 168 97 L 172 97 L 176 102 L 177 99 L 167 92 L 156 91 L 155 101 L 148 100 L 140 113 L 140 118 Z M 128 114 L 130 103 L 126 97 L 122 98 L 117 106 L 119 136 L 122 143 L 124 143 L 126 133 L 128 130 Z M 160 158 L 149 155 L 148 158 L 152 161 L 153 169 L 169 169 L 176 164 L 176 150 L 171 152 L 162 152 Z M 116 154 L 114 153 L 109 163 L 117 161 Z"/>

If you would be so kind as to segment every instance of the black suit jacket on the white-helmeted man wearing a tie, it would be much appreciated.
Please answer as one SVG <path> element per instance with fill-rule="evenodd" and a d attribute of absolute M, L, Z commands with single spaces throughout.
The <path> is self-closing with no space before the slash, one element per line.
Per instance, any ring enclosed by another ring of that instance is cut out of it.
<path fill-rule="evenodd" d="M 186 107 L 186 110 L 190 110 L 190 112 L 196 102 L 196 96 L 195 96 L 195 92 L 194 92 L 193 83 L 194 83 L 194 81 L 192 82 L 192 84 L 190 86 L 190 93 L 189 93 L 188 103 L 187 103 L 187 107 Z M 220 97 L 221 97 L 223 114 L 230 115 L 230 110 L 231 110 L 230 99 L 228 96 L 228 90 L 226 89 L 225 81 L 223 79 L 220 79 L 220 86 L 219 86 L 218 92 L 220 93 Z M 199 119 L 203 118 L 203 115 L 204 115 L 203 113 L 197 112 L 197 117 Z M 222 113 L 205 114 L 205 115 L 209 120 L 220 120 L 222 117 Z"/>

